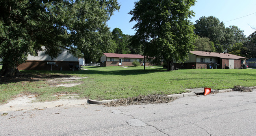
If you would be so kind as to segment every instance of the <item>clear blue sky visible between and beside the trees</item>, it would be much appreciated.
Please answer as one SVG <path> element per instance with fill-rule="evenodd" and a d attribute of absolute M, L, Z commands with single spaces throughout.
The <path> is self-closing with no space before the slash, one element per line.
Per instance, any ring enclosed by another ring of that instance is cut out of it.
<path fill-rule="evenodd" d="M 114 15 L 111 16 L 111 19 L 107 22 L 108 27 L 110 27 L 111 31 L 117 27 L 122 30 L 123 34 L 134 35 L 135 30 L 132 29 L 132 27 L 136 22 L 129 23 L 132 16 L 128 13 L 130 10 L 134 9 L 134 2 L 137 0 L 118 1 L 121 4 L 121 8 L 119 12 L 115 11 Z M 256 31 L 250 27 L 252 26 L 256 28 L 255 7 L 256 0 L 197 0 L 196 5 L 191 7 L 195 12 L 195 17 L 191 18 L 191 22 L 195 23 L 195 21 L 202 16 L 215 16 L 216 18 L 219 18 L 221 22 L 224 22 L 226 27 L 236 25 L 244 31 L 246 36 L 249 36 Z"/>

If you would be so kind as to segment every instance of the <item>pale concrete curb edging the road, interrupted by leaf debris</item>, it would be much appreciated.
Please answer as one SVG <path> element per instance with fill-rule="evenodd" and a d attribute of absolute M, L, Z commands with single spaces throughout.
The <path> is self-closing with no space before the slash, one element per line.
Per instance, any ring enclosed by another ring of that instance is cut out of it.
<path fill-rule="evenodd" d="M 255 87 L 252 87 L 252 88 L 255 88 Z M 204 88 L 187 89 L 187 91 L 190 91 L 190 92 L 186 92 L 186 93 L 182 93 L 182 94 L 171 94 L 171 95 L 168 95 L 168 97 L 178 98 L 178 97 L 195 96 L 195 95 L 204 94 Z M 232 91 L 232 89 L 211 90 L 211 93 L 214 93 L 214 92 L 228 92 L 228 91 Z M 103 101 L 97 101 L 97 100 L 91 100 L 91 99 L 87 100 L 87 102 L 91 103 L 91 104 L 104 104 L 104 103 L 115 102 L 115 101 L 117 101 L 117 99 L 115 99 L 115 100 L 103 100 Z"/>

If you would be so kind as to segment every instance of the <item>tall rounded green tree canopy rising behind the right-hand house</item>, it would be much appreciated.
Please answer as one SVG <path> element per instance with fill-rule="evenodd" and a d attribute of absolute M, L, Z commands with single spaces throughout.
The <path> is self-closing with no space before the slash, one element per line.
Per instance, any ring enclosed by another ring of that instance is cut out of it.
<path fill-rule="evenodd" d="M 224 23 L 214 16 L 202 16 L 196 20 L 195 34 L 209 38 L 217 52 L 228 52 L 232 45 L 246 41 L 243 30 L 234 25 L 225 28 Z"/>

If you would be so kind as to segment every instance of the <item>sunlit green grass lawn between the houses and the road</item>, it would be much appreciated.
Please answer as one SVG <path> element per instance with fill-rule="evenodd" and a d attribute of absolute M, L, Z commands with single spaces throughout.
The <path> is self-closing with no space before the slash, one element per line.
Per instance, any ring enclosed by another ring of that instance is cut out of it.
<path fill-rule="evenodd" d="M 234 85 L 256 86 L 256 69 L 180 69 L 166 71 L 161 67 L 84 67 L 83 71 L 21 71 L 27 80 L 1 80 L 0 103 L 17 94 L 38 94 L 39 101 L 56 100 L 58 93 L 79 94 L 79 98 L 106 100 L 128 98 L 139 94 L 177 94 L 186 89 L 210 87 L 229 89 Z M 52 87 L 44 80 L 49 75 L 87 77 L 74 87 Z M 46 77 L 47 76 L 47 77 Z M 0 78 L 1 79 L 1 78 Z"/>

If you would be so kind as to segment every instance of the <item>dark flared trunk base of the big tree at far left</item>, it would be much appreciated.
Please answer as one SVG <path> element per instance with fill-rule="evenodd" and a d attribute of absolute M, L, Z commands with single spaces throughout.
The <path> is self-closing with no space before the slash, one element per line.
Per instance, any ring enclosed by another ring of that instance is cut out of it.
<path fill-rule="evenodd" d="M 19 76 L 20 74 L 22 73 L 20 73 L 16 66 L 10 66 L 3 63 L 3 67 L 0 71 L 0 76 Z"/>

